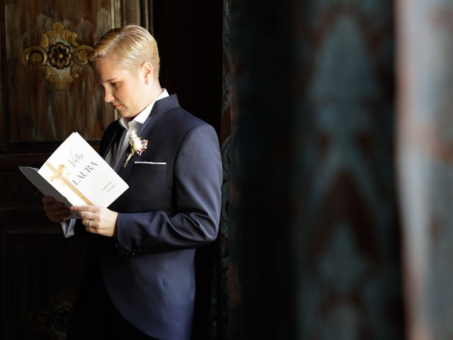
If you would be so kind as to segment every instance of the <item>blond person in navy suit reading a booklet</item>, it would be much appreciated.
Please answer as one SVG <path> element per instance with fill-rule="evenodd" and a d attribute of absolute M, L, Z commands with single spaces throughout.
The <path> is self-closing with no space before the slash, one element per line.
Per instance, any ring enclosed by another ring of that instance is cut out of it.
<path fill-rule="evenodd" d="M 68 339 L 190 339 L 195 249 L 219 228 L 217 134 L 161 88 L 158 47 L 144 28 L 110 30 L 88 59 L 120 114 L 99 153 L 130 188 L 108 208 L 42 198 L 67 236 L 91 238 Z M 67 220 L 71 210 L 81 218 Z"/>

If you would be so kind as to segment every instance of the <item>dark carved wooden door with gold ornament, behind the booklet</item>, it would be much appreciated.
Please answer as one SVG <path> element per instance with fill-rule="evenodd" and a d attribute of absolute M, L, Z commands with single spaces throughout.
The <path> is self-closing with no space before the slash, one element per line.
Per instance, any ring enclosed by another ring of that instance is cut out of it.
<path fill-rule="evenodd" d="M 115 119 L 86 53 L 115 26 L 151 29 L 152 1 L 0 0 L 0 339 L 65 339 L 84 240 L 64 239 L 18 166 L 71 132 L 98 147 Z"/>

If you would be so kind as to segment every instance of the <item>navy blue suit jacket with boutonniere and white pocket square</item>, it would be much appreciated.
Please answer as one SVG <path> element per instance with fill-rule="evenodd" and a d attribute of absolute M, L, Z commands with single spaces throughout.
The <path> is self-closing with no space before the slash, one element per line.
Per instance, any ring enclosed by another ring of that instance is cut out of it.
<path fill-rule="evenodd" d="M 101 156 L 121 134 L 117 121 L 108 126 Z M 214 241 L 219 228 L 219 140 L 176 95 L 156 101 L 137 134 L 149 143 L 118 171 L 130 188 L 109 207 L 119 212 L 116 237 L 94 237 L 105 288 L 140 331 L 190 339 L 195 248 Z"/>

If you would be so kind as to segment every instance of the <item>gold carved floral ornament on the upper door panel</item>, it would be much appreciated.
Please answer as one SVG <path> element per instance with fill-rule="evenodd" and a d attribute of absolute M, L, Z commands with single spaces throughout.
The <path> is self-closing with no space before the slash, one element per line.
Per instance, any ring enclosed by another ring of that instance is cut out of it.
<path fill-rule="evenodd" d="M 51 30 L 42 33 L 40 45 L 21 52 L 21 62 L 40 67 L 42 77 L 64 91 L 79 77 L 79 68 L 88 62 L 88 52 L 93 50 L 91 46 L 79 45 L 76 38 L 77 34 L 64 28 L 62 23 L 54 23 Z"/>

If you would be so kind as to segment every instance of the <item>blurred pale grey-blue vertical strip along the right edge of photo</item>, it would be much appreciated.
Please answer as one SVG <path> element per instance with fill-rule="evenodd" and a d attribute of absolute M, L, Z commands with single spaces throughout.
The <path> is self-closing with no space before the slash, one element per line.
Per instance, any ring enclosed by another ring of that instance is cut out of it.
<path fill-rule="evenodd" d="M 453 338 L 453 1 L 398 1 L 398 189 L 408 339 Z"/>

